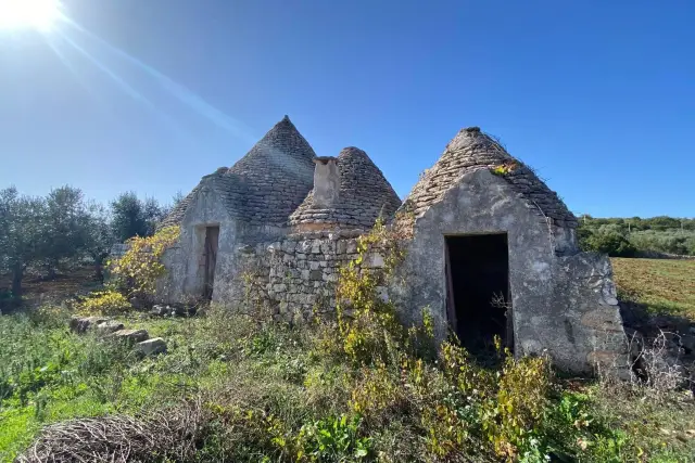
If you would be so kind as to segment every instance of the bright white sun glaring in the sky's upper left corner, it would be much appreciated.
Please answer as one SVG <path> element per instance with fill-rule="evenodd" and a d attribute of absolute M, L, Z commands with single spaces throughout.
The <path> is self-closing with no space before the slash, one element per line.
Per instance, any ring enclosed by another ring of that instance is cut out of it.
<path fill-rule="evenodd" d="M 0 30 L 50 30 L 61 17 L 60 0 L 0 0 Z"/>

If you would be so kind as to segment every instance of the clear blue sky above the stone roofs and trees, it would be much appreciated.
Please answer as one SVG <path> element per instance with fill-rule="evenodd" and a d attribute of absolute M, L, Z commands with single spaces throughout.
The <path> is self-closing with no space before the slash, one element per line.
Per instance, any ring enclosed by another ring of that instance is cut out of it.
<path fill-rule="evenodd" d="M 63 0 L 0 30 L 0 188 L 168 201 L 288 114 L 404 196 L 480 126 L 577 214 L 695 216 L 695 2 Z M 0 14 L 2 12 L 0 11 Z"/>

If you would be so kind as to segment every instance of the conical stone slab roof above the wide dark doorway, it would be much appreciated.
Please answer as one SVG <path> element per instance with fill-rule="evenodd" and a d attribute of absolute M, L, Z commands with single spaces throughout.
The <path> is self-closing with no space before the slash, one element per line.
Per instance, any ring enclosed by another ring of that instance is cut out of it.
<path fill-rule="evenodd" d="M 557 193 L 538 178 L 520 160 L 511 157 L 495 140 L 480 131 L 478 127 L 462 129 L 446 145 L 444 153 L 405 198 L 402 210 L 420 217 L 444 194 L 455 187 L 460 178 L 479 169 L 498 169 L 503 177 L 521 197 L 532 204 L 533 209 L 551 218 L 556 226 L 574 228 L 577 218 L 569 211 Z"/>

